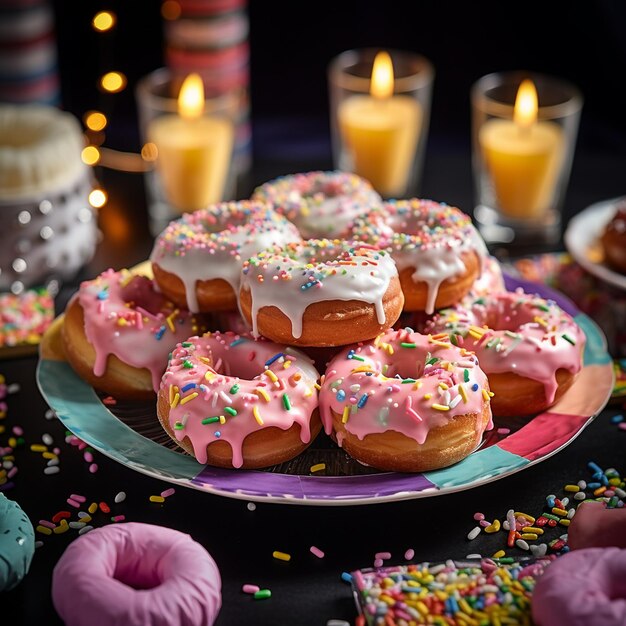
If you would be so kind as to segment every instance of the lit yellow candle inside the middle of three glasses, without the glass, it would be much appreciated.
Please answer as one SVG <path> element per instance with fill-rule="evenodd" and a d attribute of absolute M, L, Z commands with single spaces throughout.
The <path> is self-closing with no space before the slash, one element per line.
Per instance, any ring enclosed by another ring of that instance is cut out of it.
<path fill-rule="evenodd" d="M 353 171 L 385 197 L 402 197 L 422 125 L 415 98 L 394 95 L 391 57 L 374 59 L 369 95 L 350 96 L 338 108 L 339 129 Z"/>

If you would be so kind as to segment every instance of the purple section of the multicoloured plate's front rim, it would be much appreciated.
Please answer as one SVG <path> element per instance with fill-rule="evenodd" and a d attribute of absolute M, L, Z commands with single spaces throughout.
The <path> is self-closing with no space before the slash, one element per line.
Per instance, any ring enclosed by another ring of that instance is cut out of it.
<path fill-rule="evenodd" d="M 198 487 L 250 496 L 285 499 L 350 500 L 397 496 L 436 489 L 422 474 L 370 474 L 363 476 L 295 476 L 271 472 L 221 470 L 205 467 L 191 481 Z"/>

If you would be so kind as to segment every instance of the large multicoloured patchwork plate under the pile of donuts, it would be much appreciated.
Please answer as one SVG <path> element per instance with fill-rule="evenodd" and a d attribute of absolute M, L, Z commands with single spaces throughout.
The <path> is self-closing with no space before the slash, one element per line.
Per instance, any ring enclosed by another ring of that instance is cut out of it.
<path fill-rule="evenodd" d="M 200 465 L 170 441 L 152 405 L 105 405 L 74 373 L 60 349 L 62 318 L 57 318 L 42 343 L 37 381 L 50 407 L 77 437 L 133 470 L 177 485 L 244 500 L 326 506 L 452 493 L 504 478 L 557 453 L 602 410 L 613 388 L 611 358 L 596 324 L 567 298 L 545 286 L 507 277 L 507 288 L 515 287 L 553 298 L 583 328 L 587 343 L 578 383 L 549 412 L 496 420 L 495 428 L 473 454 L 452 467 L 424 474 L 366 468 L 324 433 L 292 462 L 268 470 Z M 319 463 L 325 464 L 325 475 L 311 473 L 311 467 Z"/>

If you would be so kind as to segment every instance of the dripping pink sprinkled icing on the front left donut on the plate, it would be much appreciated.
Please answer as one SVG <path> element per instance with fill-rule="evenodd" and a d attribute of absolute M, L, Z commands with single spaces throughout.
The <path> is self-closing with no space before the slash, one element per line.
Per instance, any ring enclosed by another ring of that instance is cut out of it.
<path fill-rule="evenodd" d="M 177 388 L 183 400 L 198 394 L 184 404 L 172 406 L 169 422 L 179 441 L 189 437 L 200 463 L 207 462 L 207 446 L 221 440 L 231 446 L 233 467 L 241 467 L 245 438 L 269 426 L 287 430 L 297 423 L 302 442 L 310 441 L 310 418 L 318 404 L 314 385 L 319 373 L 304 353 L 232 332 L 192 337 L 185 344 L 191 345 L 178 345 L 174 350 L 161 384 L 168 393 L 174 385 L 172 393 Z M 283 356 L 266 365 L 278 354 Z M 211 367 L 210 363 L 220 361 L 219 368 Z M 276 380 L 266 375 L 266 370 Z M 255 407 L 263 424 L 254 416 Z M 226 409 L 236 411 L 236 415 Z M 207 417 L 219 416 L 223 416 L 223 424 L 202 423 Z M 184 426 L 177 428 L 176 424 Z"/>

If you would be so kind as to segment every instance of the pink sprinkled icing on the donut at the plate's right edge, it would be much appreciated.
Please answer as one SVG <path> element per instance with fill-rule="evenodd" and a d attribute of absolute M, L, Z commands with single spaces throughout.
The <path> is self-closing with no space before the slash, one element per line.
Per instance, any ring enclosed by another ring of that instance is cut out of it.
<path fill-rule="evenodd" d="M 470 326 L 483 325 L 490 329 L 488 336 L 466 334 Z M 426 328 L 433 333 L 455 329 L 464 335 L 463 345 L 476 352 L 487 375 L 514 372 L 536 380 L 544 385 L 548 402 L 553 402 L 558 388 L 557 370 L 575 374 L 582 367 L 585 335 L 578 324 L 556 303 L 521 289 L 442 311 Z"/>

